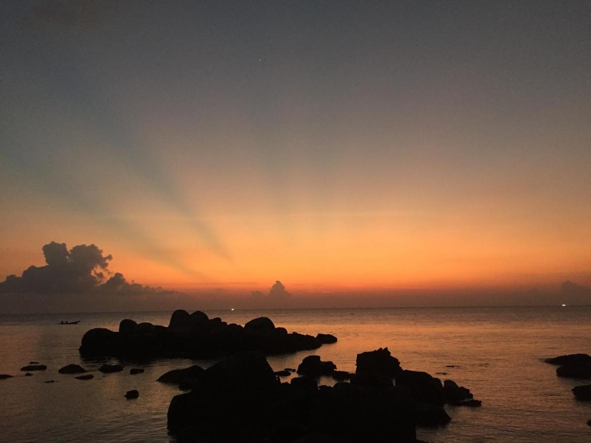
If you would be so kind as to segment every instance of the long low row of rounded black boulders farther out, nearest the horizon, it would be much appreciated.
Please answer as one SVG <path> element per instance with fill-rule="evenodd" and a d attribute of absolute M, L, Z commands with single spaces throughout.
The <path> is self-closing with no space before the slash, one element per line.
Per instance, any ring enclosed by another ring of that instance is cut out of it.
<path fill-rule="evenodd" d="M 190 357 L 209 359 L 241 351 L 264 354 L 288 353 L 316 349 L 334 343 L 330 334 L 287 333 L 276 328 L 267 317 L 249 321 L 243 327 L 228 324 L 221 318 L 209 318 L 204 312 L 177 310 L 168 327 L 151 323 L 122 320 L 119 331 L 95 328 L 82 337 L 80 354 L 84 357 L 111 356 L 123 359 Z"/>

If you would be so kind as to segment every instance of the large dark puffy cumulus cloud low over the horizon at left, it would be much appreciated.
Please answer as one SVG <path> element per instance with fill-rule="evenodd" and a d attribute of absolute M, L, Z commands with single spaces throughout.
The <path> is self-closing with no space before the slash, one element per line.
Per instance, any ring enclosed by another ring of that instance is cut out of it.
<path fill-rule="evenodd" d="M 68 250 L 66 243 L 51 242 L 43 246 L 46 266 L 29 266 L 20 277 L 9 275 L 0 283 L 0 292 L 69 294 L 88 292 L 155 292 L 160 288 L 126 281 L 122 273 L 110 278 L 109 262 L 96 245 L 77 245 Z"/>

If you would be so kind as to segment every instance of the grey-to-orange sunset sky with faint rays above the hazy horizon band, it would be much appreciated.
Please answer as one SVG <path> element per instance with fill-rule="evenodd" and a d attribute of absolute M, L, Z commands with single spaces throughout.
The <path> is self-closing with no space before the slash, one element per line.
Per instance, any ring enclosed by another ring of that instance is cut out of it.
<path fill-rule="evenodd" d="M 4 1 L 0 278 L 591 281 L 589 1 Z"/>

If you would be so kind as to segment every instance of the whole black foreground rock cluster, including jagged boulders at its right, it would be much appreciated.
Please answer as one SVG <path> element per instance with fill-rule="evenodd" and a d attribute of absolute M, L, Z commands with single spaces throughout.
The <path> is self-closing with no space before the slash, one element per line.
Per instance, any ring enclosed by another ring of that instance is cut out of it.
<path fill-rule="evenodd" d="M 158 380 L 192 389 L 171 401 L 168 429 L 181 442 L 415 442 L 417 424 L 450 421 L 444 403 L 480 405 L 452 380 L 402 370 L 387 348 L 358 354 L 350 383 L 318 386 L 317 377 L 338 372 L 319 356 L 297 372 L 281 383 L 256 351 L 168 372 Z"/>

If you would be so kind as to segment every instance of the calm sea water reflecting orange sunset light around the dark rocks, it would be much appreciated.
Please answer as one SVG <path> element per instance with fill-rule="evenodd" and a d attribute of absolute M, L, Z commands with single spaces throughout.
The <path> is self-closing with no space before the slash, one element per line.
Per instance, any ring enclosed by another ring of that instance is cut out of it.
<path fill-rule="evenodd" d="M 170 369 L 212 360 L 161 360 L 93 380 L 76 380 L 57 370 L 103 361 L 82 361 L 80 339 L 94 327 L 115 329 L 122 318 L 168 325 L 171 312 L 42 314 L 0 316 L 0 441 L 135 442 L 174 441 L 166 412 L 180 391 L 155 382 Z M 574 400 L 571 388 L 590 380 L 556 377 L 548 356 L 591 353 L 591 307 L 545 308 L 372 308 L 207 311 L 228 323 L 244 324 L 265 315 L 288 331 L 335 334 L 339 341 L 316 351 L 271 356 L 275 370 L 297 367 L 316 353 L 337 369 L 355 370 L 356 354 L 387 346 L 404 369 L 424 370 L 469 387 L 481 408 L 447 407 L 447 426 L 419 428 L 429 442 L 589 442 L 591 402 Z M 59 325 L 60 320 L 82 320 Z M 24 377 L 20 367 L 40 361 L 48 369 Z M 453 365 L 453 367 L 448 367 Z M 129 369 L 127 367 L 126 369 Z M 55 380 L 56 383 L 43 383 Z M 330 378 L 321 383 L 332 385 Z M 139 399 L 126 400 L 138 389 Z"/>

